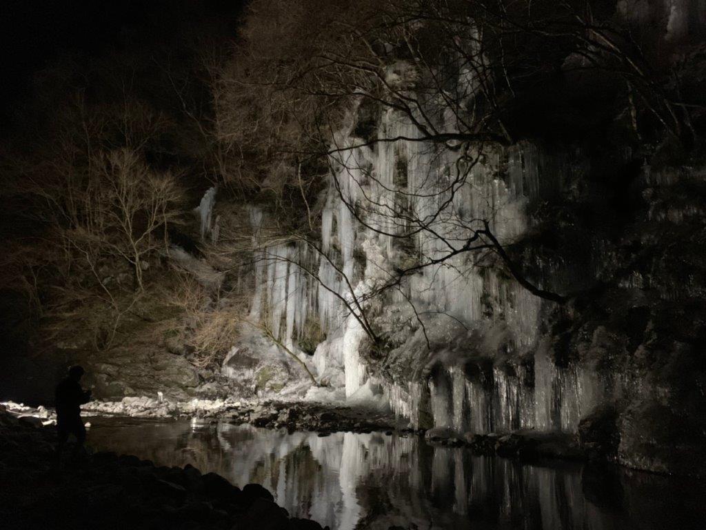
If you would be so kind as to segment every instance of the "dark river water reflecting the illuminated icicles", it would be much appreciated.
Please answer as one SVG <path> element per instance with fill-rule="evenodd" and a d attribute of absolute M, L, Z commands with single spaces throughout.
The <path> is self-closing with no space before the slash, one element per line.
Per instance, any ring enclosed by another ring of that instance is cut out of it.
<path fill-rule="evenodd" d="M 686 529 L 706 520 L 704 484 L 613 466 L 530 466 L 383 433 L 92 423 L 96 449 L 261 483 L 292 516 L 332 529 Z"/>

